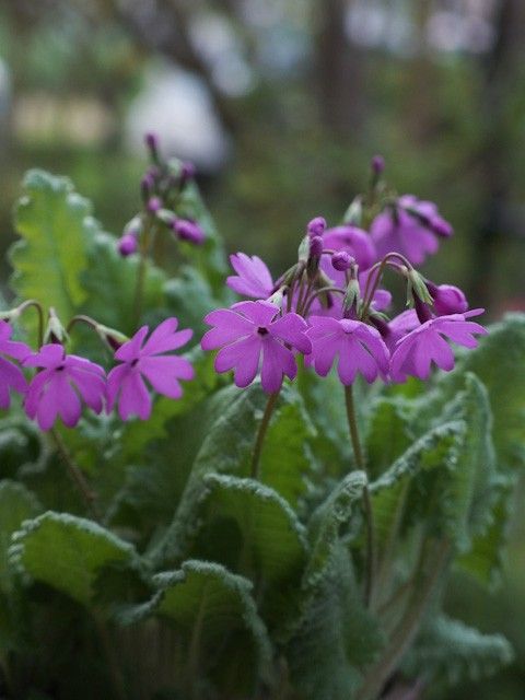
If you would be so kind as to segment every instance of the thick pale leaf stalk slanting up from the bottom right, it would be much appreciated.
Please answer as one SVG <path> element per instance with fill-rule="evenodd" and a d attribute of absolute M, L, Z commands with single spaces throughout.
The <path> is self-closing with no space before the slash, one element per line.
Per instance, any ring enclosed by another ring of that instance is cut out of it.
<path fill-rule="evenodd" d="M 444 540 L 440 544 L 438 551 L 433 553 L 425 580 L 419 588 L 416 588 L 412 604 L 409 605 L 407 615 L 394 631 L 382 658 L 366 674 L 364 684 L 358 693 L 358 700 L 375 700 L 409 649 L 419 630 L 421 618 L 432 597 L 434 586 L 448 563 L 450 552 L 451 542 Z"/>

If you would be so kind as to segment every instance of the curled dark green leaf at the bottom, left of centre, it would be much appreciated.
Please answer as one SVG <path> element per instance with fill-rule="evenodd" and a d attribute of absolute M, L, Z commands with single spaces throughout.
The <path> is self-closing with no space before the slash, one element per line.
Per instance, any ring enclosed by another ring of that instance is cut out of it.
<path fill-rule="evenodd" d="M 250 582 L 220 564 L 189 560 L 178 571 L 158 574 L 153 583 L 158 593 L 132 608 L 127 621 L 151 615 L 167 620 L 187 640 L 194 678 L 209 673 L 228 691 L 224 697 L 252 697 L 257 679 L 268 676 L 271 644 Z"/>

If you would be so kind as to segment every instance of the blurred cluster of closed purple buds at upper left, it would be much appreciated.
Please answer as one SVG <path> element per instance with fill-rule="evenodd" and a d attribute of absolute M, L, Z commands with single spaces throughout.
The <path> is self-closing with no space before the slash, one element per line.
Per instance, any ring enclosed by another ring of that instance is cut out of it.
<path fill-rule="evenodd" d="M 140 185 L 142 211 L 126 224 L 117 243 L 119 254 L 128 257 L 148 250 L 156 232 L 167 232 L 178 241 L 201 245 L 205 232 L 191 212 L 185 210 L 184 194 L 195 177 L 194 165 L 176 159 L 162 159 L 153 133 L 147 135 L 145 144 L 151 165 Z"/>

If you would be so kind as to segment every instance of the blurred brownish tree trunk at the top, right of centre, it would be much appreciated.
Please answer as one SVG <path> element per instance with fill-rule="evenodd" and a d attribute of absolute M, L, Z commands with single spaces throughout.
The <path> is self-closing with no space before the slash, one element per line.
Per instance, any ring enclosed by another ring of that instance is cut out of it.
<path fill-rule="evenodd" d="M 315 5 L 316 82 L 319 114 L 336 136 L 348 138 L 363 119 L 363 62 L 359 47 L 346 33 L 351 0 L 324 0 Z"/>

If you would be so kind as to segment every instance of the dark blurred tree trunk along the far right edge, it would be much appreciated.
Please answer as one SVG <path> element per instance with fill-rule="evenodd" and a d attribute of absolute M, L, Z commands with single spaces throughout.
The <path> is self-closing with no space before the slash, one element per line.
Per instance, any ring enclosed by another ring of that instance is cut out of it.
<path fill-rule="evenodd" d="M 508 219 L 504 202 L 511 190 L 508 158 L 512 133 L 508 121 L 509 98 L 525 55 L 525 2 L 500 0 L 494 18 L 495 40 L 482 59 L 481 114 L 483 139 L 477 155 L 483 207 L 474 237 L 469 296 L 476 305 L 490 306 L 498 248 Z"/>

